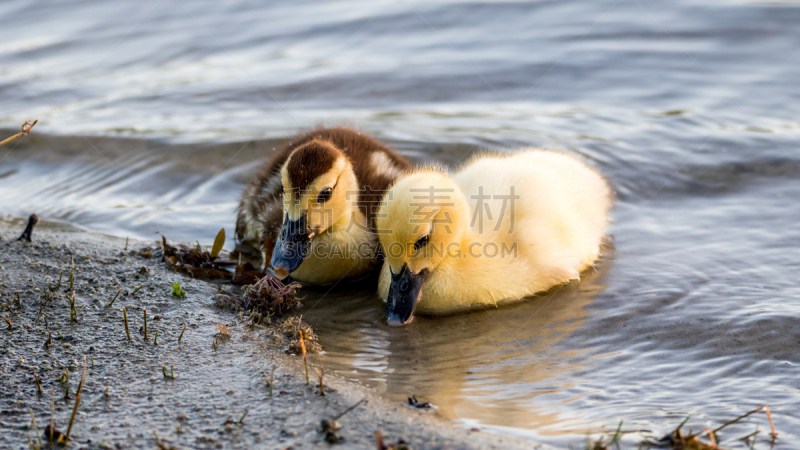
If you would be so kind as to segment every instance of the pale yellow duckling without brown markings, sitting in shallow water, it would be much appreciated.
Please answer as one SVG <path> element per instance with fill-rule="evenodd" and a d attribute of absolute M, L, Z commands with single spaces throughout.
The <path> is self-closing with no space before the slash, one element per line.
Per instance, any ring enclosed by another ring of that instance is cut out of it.
<path fill-rule="evenodd" d="M 453 176 L 410 173 L 378 213 L 386 319 L 496 306 L 577 279 L 599 257 L 611 208 L 598 172 L 550 150 L 479 156 Z"/>

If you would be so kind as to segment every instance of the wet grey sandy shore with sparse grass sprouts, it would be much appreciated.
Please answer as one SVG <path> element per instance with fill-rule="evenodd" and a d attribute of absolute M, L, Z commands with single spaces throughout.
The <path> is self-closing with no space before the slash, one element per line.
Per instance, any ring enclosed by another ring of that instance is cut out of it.
<path fill-rule="evenodd" d="M 43 432 L 51 421 L 51 397 L 56 428 L 66 433 L 84 356 L 86 383 L 72 448 L 327 447 L 320 421 L 362 399 L 338 420 L 340 448 L 375 448 L 376 430 L 387 444 L 402 439 L 417 449 L 533 445 L 454 426 L 435 411 L 388 402 L 332 374 L 325 375 L 322 396 L 315 356 L 310 357 L 308 386 L 300 357 L 287 355 L 285 345 L 269 332 L 248 327 L 213 306 L 213 297 L 227 287 L 189 279 L 159 258 L 136 254 L 155 241 L 131 241 L 124 251 L 124 239 L 45 221 L 34 230 L 32 243 L 17 241 L 25 222 L 0 219 L 0 293 L 8 304 L 0 307 L 12 324 L 0 322 L 1 447 L 27 448 L 29 439 L 35 442 L 31 411 Z M 73 258 L 77 320 L 70 308 Z M 174 283 L 181 284 L 186 296 L 172 295 Z M 140 332 L 145 309 L 147 341 Z M 218 324 L 227 327 L 230 338 L 218 336 Z M 323 348 L 324 340 L 321 336 Z M 174 379 L 165 377 L 164 367 Z M 270 395 L 265 379 L 273 368 Z"/>

